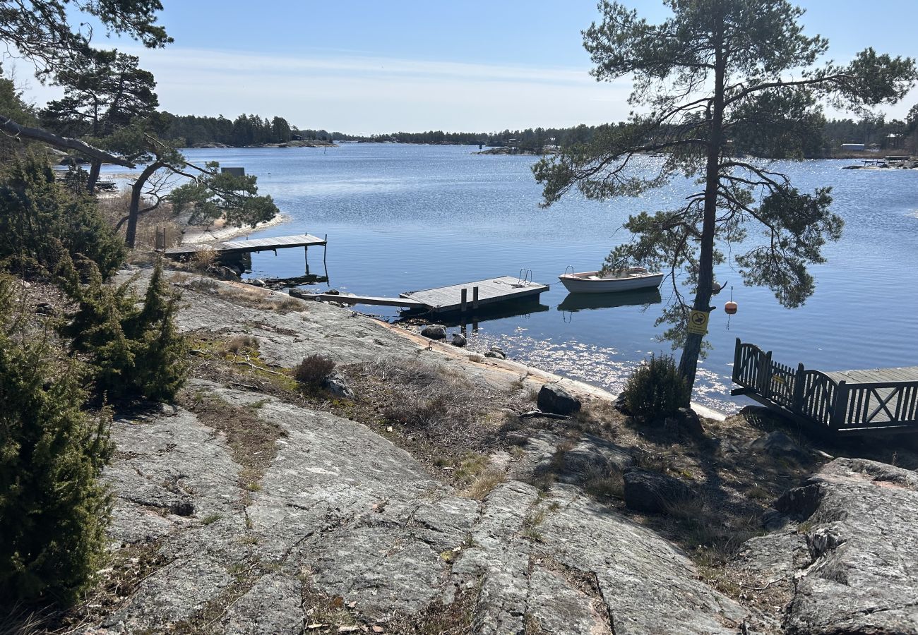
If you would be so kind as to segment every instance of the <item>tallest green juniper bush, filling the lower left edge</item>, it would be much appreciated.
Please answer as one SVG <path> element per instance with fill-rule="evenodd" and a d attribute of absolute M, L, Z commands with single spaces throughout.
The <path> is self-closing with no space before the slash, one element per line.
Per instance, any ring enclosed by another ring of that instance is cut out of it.
<path fill-rule="evenodd" d="M 82 364 L 28 329 L 13 284 L 0 274 L 0 607 L 67 605 L 104 552 L 110 418 L 83 410 Z"/>

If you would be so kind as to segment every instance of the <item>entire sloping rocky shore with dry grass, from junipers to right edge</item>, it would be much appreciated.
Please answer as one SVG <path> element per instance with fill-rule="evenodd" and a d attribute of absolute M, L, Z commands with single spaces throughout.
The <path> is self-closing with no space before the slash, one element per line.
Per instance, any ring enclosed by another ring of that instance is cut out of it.
<path fill-rule="evenodd" d="M 192 379 L 118 413 L 112 562 L 70 632 L 918 632 L 918 477 L 884 448 L 757 408 L 646 428 L 499 356 L 169 275 Z M 297 386 L 314 354 L 352 396 Z M 546 384 L 579 409 L 543 416 Z"/>

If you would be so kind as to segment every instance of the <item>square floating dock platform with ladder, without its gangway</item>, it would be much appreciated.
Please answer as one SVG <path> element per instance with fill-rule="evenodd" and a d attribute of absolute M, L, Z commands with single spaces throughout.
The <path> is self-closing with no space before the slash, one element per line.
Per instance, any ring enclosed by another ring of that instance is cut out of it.
<path fill-rule="evenodd" d="M 548 284 L 521 281 L 518 277 L 504 275 L 472 283 L 408 291 L 399 294 L 399 297 L 416 300 L 434 313 L 448 313 L 538 296 L 548 291 L 548 288 Z"/>

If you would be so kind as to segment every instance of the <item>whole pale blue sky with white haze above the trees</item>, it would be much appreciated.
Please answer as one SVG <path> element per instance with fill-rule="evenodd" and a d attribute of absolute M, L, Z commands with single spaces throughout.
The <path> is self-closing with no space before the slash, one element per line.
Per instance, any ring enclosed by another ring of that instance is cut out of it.
<path fill-rule="evenodd" d="M 767 0 L 763 0 L 767 1 Z M 285 117 L 299 128 L 350 134 L 497 131 L 620 121 L 630 82 L 588 74 L 581 31 L 596 0 L 162 0 L 162 50 L 130 40 L 153 72 L 162 109 L 178 115 Z M 660 0 L 624 0 L 655 22 Z M 798 0 L 808 35 L 849 61 L 872 46 L 918 56 L 918 3 Z M 106 39 L 98 37 L 96 45 Z M 8 62 L 6 64 L 8 66 Z M 24 62 L 18 62 L 21 79 Z M 42 105 L 57 89 L 31 81 Z M 890 117 L 903 118 L 918 89 Z"/>

